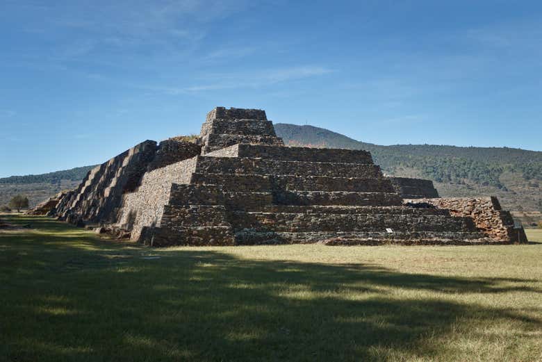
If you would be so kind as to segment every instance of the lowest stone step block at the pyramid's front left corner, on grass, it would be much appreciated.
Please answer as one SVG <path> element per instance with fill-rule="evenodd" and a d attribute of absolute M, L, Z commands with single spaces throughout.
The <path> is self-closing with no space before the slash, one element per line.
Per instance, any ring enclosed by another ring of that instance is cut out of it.
<path fill-rule="evenodd" d="M 174 245 L 227 246 L 234 245 L 231 227 L 155 227 L 145 228 L 140 242 L 153 247 Z"/>

